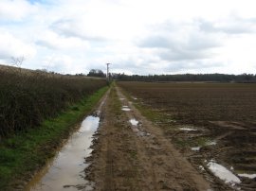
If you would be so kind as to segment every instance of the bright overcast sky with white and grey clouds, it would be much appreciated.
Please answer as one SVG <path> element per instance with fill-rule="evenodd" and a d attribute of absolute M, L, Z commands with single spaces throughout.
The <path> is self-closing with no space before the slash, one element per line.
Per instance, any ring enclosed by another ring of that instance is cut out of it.
<path fill-rule="evenodd" d="M 0 0 L 0 64 L 256 74 L 255 0 Z"/>

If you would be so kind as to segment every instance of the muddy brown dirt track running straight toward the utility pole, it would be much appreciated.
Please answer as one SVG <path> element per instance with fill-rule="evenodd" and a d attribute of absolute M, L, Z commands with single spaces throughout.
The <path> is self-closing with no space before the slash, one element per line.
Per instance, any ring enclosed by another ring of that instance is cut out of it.
<path fill-rule="evenodd" d="M 122 111 L 130 108 L 131 111 Z M 136 119 L 132 125 L 129 120 Z M 210 183 L 168 141 L 112 88 L 101 111 L 87 179 L 95 190 L 208 190 Z"/>

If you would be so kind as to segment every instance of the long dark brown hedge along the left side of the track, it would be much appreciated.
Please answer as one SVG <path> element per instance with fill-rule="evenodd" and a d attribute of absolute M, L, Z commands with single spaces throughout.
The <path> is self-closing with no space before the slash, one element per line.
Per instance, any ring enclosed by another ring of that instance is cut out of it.
<path fill-rule="evenodd" d="M 106 80 L 0 67 L 0 140 L 36 128 L 65 108 L 90 96 Z"/>

